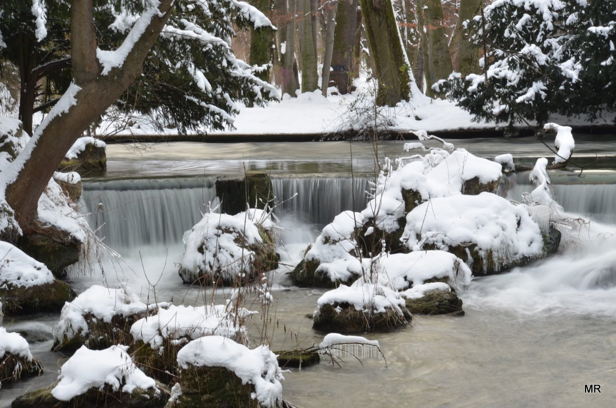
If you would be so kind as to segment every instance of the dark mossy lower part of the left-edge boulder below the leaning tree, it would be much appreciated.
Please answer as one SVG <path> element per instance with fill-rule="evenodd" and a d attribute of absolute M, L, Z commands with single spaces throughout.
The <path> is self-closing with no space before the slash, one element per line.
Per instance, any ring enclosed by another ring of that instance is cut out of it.
<path fill-rule="evenodd" d="M 61 280 L 51 284 L 31 287 L 0 287 L 0 298 L 7 315 L 22 315 L 35 312 L 59 312 L 65 302 L 75 299 L 75 291 Z"/>

